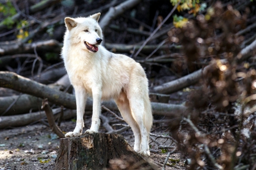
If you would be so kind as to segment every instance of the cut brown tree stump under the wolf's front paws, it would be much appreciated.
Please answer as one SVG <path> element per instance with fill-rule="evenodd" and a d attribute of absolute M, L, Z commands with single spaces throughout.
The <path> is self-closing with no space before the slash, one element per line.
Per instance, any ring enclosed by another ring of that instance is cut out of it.
<path fill-rule="evenodd" d="M 125 141 L 120 134 L 83 134 L 75 138 L 60 139 L 60 149 L 55 160 L 55 169 L 107 169 L 113 160 L 136 165 L 134 169 L 155 169 Z M 127 164 L 126 164 L 127 165 Z M 129 169 L 127 167 L 127 169 Z"/>

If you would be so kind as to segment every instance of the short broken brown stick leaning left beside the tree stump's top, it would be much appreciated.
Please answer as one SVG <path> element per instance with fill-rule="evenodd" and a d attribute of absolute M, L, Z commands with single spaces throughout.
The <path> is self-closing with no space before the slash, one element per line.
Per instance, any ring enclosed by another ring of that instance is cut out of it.
<path fill-rule="evenodd" d="M 51 107 L 49 107 L 48 100 L 44 99 L 42 102 L 42 109 L 46 112 L 46 117 L 49 122 L 49 126 L 52 131 L 58 135 L 59 138 L 65 138 L 65 135 L 62 133 L 60 128 L 55 124 L 53 113 Z"/>

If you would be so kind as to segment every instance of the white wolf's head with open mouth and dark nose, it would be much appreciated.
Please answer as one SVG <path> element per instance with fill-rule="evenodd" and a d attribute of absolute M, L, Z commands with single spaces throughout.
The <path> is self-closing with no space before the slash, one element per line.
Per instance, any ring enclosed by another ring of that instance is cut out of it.
<path fill-rule="evenodd" d="M 71 44 L 80 45 L 82 49 L 96 53 L 103 37 L 98 25 L 100 15 L 101 13 L 97 13 L 88 18 L 65 18 Z"/>

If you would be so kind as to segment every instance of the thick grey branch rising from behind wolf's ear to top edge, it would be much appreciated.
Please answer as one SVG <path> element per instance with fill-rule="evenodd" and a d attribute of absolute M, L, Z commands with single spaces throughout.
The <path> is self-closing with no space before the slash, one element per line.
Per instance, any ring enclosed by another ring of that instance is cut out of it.
<path fill-rule="evenodd" d="M 118 15 L 121 15 L 126 10 L 129 10 L 130 8 L 137 5 L 141 0 L 128 0 L 125 1 L 118 6 L 110 7 L 109 11 L 104 15 L 104 17 L 100 20 L 100 26 L 102 29 L 102 32 L 105 31 L 105 28 L 109 25 L 109 23 Z"/>

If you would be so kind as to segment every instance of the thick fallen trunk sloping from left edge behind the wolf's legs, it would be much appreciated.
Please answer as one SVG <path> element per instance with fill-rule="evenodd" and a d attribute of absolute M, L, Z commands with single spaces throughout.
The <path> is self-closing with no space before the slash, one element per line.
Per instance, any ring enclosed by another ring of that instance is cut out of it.
<path fill-rule="evenodd" d="M 44 84 L 37 83 L 33 80 L 24 78 L 15 73 L 0 71 L 0 87 L 11 88 L 23 92 L 24 94 L 33 95 L 40 98 L 48 98 L 51 103 L 63 105 L 69 109 L 76 109 L 75 96 L 55 90 Z M 118 111 L 114 101 L 104 101 L 102 105 L 106 108 Z M 154 114 L 168 115 L 172 117 L 181 117 L 181 114 L 187 109 L 183 105 L 151 103 Z M 86 110 L 92 111 L 92 100 L 88 99 Z"/>

